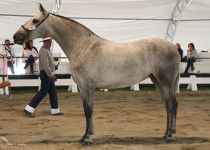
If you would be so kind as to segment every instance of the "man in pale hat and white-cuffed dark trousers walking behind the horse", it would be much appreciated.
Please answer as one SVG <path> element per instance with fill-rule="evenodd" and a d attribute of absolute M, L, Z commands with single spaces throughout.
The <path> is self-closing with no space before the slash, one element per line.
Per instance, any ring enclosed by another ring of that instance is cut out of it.
<path fill-rule="evenodd" d="M 41 100 L 49 93 L 50 105 L 51 105 L 51 115 L 63 115 L 58 107 L 58 98 L 55 87 L 55 81 L 57 77 L 54 75 L 55 65 L 53 62 L 53 57 L 50 52 L 50 47 L 52 44 L 52 38 L 46 37 L 42 39 L 43 46 L 39 51 L 39 70 L 40 70 L 40 79 L 41 79 L 41 89 L 34 96 L 31 102 L 25 107 L 24 113 L 29 117 L 34 117 L 33 113 L 37 105 Z"/>

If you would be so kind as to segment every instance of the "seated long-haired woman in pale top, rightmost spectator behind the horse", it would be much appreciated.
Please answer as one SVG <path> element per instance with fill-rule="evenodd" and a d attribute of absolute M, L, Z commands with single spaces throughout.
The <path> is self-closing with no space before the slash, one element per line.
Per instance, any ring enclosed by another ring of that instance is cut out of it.
<path fill-rule="evenodd" d="M 188 44 L 188 50 L 187 50 L 187 67 L 184 71 L 184 74 L 188 73 L 189 68 L 191 67 L 191 70 L 193 71 L 195 69 L 194 62 L 195 59 L 198 57 L 197 51 L 195 49 L 195 46 L 193 43 Z"/>

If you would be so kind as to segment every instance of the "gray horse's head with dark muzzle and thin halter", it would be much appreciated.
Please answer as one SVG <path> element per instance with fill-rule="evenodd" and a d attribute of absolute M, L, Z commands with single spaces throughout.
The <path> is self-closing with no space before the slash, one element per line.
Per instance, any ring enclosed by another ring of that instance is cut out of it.
<path fill-rule="evenodd" d="M 45 21 L 47 20 L 50 13 L 47 12 L 40 3 L 38 6 L 40 12 L 29 19 L 13 35 L 14 43 L 22 45 L 23 42 L 28 40 L 46 36 L 47 28 L 45 26 Z"/>

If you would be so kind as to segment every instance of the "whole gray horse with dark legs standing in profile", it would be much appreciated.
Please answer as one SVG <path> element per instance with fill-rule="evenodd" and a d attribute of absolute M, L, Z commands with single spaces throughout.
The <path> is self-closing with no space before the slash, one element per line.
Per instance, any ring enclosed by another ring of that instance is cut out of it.
<path fill-rule="evenodd" d="M 47 12 L 41 4 L 39 9 L 40 12 L 14 34 L 14 42 L 22 44 L 51 36 L 69 58 L 86 117 L 86 131 L 81 143 L 93 143 L 96 88 L 128 87 L 148 77 L 165 100 L 167 126 L 164 139 L 167 143 L 174 142 L 180 56 L 172 43 L 162 39 L 115 43 L 97 36 L 74 20 Z"/>

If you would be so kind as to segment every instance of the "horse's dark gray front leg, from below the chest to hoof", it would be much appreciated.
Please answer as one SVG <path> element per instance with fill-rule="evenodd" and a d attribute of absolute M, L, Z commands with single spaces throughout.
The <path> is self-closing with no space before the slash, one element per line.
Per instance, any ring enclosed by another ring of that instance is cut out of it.
<path fill-rule="evenodd" d="M 82 101 L 86 118 L 86 131 L 80 140 L 80 143 L 85 145 L 92 145 L 93 140 L 91 135 L 94 133 L 93 129 L 93 103 L 95 97 L 95 89 L 84 89 L 82 92 Z"/>

